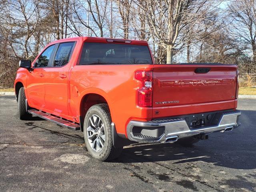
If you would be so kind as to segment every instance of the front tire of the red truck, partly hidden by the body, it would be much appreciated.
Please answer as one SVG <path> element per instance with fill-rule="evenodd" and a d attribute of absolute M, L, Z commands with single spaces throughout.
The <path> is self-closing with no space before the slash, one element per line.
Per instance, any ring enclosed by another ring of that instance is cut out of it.
<path fill-rule="evenodd" d="M 18 95 L 18 117 L 20 120 L 29 120 L 31 115 L 26 112 L 26 96 L 24 87 L 21 87 Z"/>

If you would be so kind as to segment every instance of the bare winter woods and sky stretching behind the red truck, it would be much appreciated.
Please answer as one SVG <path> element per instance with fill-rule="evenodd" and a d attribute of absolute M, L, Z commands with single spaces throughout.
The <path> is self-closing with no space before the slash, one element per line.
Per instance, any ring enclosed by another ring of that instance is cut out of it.
<path fill-rule="evenodd" d="M 0 0 L 0 86 L 75 36 L 147 40 L 156 63 L 238 64 L 242 86 L 256 80 L 256 0 Z"/>

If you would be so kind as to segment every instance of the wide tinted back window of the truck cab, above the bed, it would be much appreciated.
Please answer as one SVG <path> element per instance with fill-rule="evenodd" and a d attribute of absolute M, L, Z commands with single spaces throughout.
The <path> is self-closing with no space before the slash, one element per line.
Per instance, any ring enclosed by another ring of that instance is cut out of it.
<path fill-rule="evenodd" d="M 152 64 L 148 46 L 84 43 L 80 65 Z"/>

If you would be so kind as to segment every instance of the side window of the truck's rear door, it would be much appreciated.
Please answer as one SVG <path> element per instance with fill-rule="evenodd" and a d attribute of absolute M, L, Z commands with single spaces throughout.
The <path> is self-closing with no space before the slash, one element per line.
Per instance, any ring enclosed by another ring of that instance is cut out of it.
<path fill-rule="evenodd" d="M 66 65 L 69 60 L 74 47 L 74 42 L 61 43 L 56 52 L 53 66 L 61 67 Z"/>

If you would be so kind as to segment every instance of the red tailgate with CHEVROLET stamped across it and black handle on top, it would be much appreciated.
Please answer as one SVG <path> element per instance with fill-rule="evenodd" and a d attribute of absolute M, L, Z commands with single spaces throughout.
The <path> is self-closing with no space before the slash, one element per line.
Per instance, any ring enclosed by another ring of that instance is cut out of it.
<path fill-rule="evenodd" d="M 236 65 L 154 65 L 153 118 L 234 108 L 236 70 Z"/>

